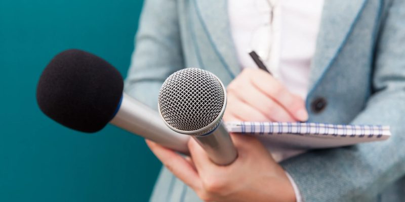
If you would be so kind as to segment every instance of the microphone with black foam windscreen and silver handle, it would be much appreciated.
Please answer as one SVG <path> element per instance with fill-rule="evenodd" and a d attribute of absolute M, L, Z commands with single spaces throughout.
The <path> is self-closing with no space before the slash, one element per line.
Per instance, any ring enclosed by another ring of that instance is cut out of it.
<path fill-rule="evenodd" d="M 39 109 L 68 128 L 94 133 L 107 123 L 188 153 L 187 137 L 167 128 L 158 113 L 123 93 L 118 70 L 78 49 L 56 55 L 36 89 Z"/>

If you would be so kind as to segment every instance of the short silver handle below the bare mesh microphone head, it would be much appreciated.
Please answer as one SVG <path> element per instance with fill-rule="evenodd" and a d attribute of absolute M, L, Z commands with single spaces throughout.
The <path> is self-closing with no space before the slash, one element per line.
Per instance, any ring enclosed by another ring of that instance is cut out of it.
<path fill-rule="evenodd" d="M 237 151 L 232 139 L 222 123 L 209 135 L 193 136 L 208 157 L 217 165 L 226 166 L 235 161 Z"/>

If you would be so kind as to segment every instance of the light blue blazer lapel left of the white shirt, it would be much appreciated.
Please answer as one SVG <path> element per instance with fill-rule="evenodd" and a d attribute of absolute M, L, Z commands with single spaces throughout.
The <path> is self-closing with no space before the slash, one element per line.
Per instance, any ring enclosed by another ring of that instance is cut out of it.
<path fill-rule="evenodd" d="M 197 16 L 211 45 L 234 78 L 240 72 L 229 26 L 227 0 L 193 0 Z"/>

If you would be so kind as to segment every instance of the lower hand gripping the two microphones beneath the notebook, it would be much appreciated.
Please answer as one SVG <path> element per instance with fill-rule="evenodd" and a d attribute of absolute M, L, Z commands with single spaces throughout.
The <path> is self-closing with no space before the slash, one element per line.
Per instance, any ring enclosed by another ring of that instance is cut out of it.
<path fill-rule="evenodd" d="M 295 201 L 284 170 L 255 137 L 231 134 L 238 158 L 228 166 L 211 162 L 190 138 L 191 158 L 146 140 L 156 157 L 205 201 Z"/>

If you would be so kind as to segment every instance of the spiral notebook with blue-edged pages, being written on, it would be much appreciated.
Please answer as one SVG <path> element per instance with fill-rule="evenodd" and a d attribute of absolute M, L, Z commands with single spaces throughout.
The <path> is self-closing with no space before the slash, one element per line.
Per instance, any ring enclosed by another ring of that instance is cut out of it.
<path fill-rule="evenodd" d="M 251 134 L 276 147 L 315 149 L 382 141 L 389 126 L 292 122 L 225 122 L 229 132 Z"/>

